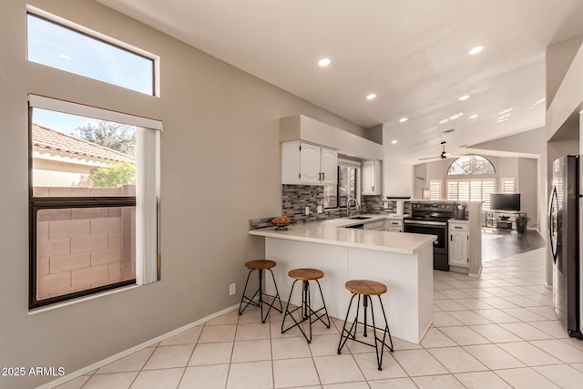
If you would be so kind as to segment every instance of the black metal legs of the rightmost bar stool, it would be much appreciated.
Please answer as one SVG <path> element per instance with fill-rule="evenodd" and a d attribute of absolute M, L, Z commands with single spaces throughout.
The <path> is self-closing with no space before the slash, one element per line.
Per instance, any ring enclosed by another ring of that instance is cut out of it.
<path fill-rule="evenodd" d="M 353 324 L 350 326 L 350 328 L 347 329 L 347 324 L 348 324 L 348 316 L 350 315 L 350 310 L 353 306 L 353 301 L 354 298 L 358 296 L 358 300 L 356 302 L 356 315 L 354 317 L 354 321 Z M 376 363 L 378 364 L 379 370 L 383 370 L 383 352 L 384 352 L 384 347 L 388 348 L 389 351 L 391 353 L 393 353 L 393 338 L 391 337 L 391 331 L 389 330 L 389 324 L 386 321 L 386 314 L 384 313 L 384 305 L 383 305 L 383 300 L 381 299 L 381 296 L 379 297 L 379 302 L 381 304 L 381 311 L 383 312 L 383 317 L 384 317 L 384 328 L 377 328 L 376 327 L 376 323 L 374 322 L 374 310 L 373 310 L 373 301 L 371 299 L 371 296 L 368 295 L 363 295 L 363 315 L 364 315 L 364 322 L 359 322 L 358 321 L 358 316 L 359 316 L 359 312 L 360 312 L 360 305 L 361 305 L 361 295 L 357 294 L 357 293 L 353 293 L 353 297 L 351 297 L 350 299 L 350 303 L 348 304 L 348 310 L 346 312 L 346 318 L 344 319 L 344 324 L 343 324 L 343 331 L 340 334 L 340 342 L 338 343 L 338 353 L 342 353 L 344 344 L 346 344 L 346 341 L 348 341 L 348 339 L 353 340 L 354 342 L 358 342 L 358 343 L 363 343 L 369 346 L 373 346 L 374 350 L 376 352 Z M 370 302 L 370 305 L 369 305 Z M 373 319 L 373 324 L 369 324 L 368 323 L 368 308 L 371 308 L 371 318 Z M 363 342 L 359 339 L 356 339 L 356 327 L 358 324 L 363 324 L 363 337 L 368 337 L 368 328 L 371 327 L 373 329 L 373 336 L 374 336 L 374 343 L 366 343 Z M 383 337 L 380 338 L 379 336 L 377 336 L 376 330 L 381 330 L 383 331 Z M 389 342 L 390 345 L 386 343 L 386 336 L 389 336 Z"/>

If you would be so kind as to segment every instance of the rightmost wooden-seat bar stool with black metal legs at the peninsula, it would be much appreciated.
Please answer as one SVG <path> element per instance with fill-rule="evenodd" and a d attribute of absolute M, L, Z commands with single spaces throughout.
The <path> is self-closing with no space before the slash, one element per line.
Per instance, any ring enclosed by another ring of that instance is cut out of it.
<path fill-rule="evenodd" d="M 375 282 L 370 280 L 352 280 L 346 282 L 345 285 L 346 289 L 353 293 L 353 297 L 350 299 L 350 304 L 348 305 L 348 311 L 346 312 L 346 319 L 344 319 L 343 325 L 343 332 L 340 334 L 340 343 L 338 343 L 338 353 L 341 353 L 346 344 L 348 339 L 363 343 L 369 346 L 374 347 L 376 351 L 376 362 L 379 365 L 379 370 L 383 370 L 383 352 L 384 347 L 388 348 L 391 353 L 393 353 L 393 338 L 391 338 L 391 332 L 389 331 L 389 324 L 386 321 L 386 314 L 384 313 L 384 306 L 383 300 L 381 300 L 381 294 L 386 292 L 386 286 L 381 282 Z M 351 307 L 353 306 L 354 298 L 358 296 L 358 302 L 356 302 L 356 315 L 354 316 L 353 324 L 351 325 L 350 329 L 346 329 L 348 325 L 348 315 L 350 314 Z M 358 314 L 360 311 L 360 304 L 361 304 L 361 296 L 363 296 L 363 308 L 364 308 L 364 322 L 358 321 Z M 374 323 L 374 310 L 373 310 L 373 300 L 371 296 L 378 296 L 379 302 L 381 303 L 381 310 L 383 311 L 384 316 L 384 329 L 377 328 Z M 369 305 L 370 302 L 370 305 Z M 371 308 L 371 316 L 373 318 L 373 324 L 369 324 L 367 322 L 368 316 L 368 308 Z M 363 324 L 363 337 L 368 337 L 368 328 L 371 327 L 373 329 L 373 336 L 374 336 L 374 343 L 366 343 L 359 339 L 356 339 L 356 327 L 358 324 Z M 383 331 L 383 338 L 381 339 L 377 336 L 376 330 Z M 391 345 L 388 345 L 386 341 L 386 335 L 389 335 L 389 342 Z"/>

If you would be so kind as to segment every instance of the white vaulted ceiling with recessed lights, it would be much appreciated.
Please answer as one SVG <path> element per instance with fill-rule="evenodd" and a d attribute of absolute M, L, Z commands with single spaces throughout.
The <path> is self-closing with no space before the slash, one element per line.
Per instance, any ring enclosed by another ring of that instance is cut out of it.
<path fill-rule="evenodd" d="M 545 48 L 583 34 L 581 0 L 97 1 L 363 127 L 384 123 L 409 163 L 441 140 L 467 153 L 543 127 Z"/>

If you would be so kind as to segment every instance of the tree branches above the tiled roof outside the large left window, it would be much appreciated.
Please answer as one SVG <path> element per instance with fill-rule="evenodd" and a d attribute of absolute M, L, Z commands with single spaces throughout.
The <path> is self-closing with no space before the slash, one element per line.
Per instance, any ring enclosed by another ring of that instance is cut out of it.
<path fill-rule="evenodd" d="M 87 124 L 77 128 L 75 136 L 124 154 L 136 155 L 136 129 L 131 126 L 99 120 L 97 127 Z"/>

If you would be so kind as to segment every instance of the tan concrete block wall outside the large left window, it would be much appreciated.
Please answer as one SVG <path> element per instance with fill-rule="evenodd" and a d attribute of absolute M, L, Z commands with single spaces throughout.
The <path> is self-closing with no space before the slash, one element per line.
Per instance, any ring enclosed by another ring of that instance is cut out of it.
<path fill-rule="evenodd" d="M 125 194 L 122 188 L 44 190 L 34 192 L 59 197 Z M 135 220 L 133 207 L 39 210 L 37 300 L 135 278 Z"/>

